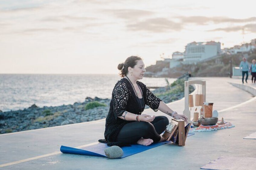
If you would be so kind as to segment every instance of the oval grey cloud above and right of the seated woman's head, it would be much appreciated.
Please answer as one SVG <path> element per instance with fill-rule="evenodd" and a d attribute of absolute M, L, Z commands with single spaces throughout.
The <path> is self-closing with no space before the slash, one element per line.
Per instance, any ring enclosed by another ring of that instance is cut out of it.
<path fill-rule="evenodd" d="M 151 18 L 135 24 L 128 24 L 127 28 L 132 31 L 168 32 L 181 30 L 182 24 L 166 18 Z"/>

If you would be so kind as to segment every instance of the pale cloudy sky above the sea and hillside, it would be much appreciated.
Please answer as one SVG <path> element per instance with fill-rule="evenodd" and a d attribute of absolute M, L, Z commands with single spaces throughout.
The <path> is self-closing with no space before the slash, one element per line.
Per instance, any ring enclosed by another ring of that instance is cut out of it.
<path fill-rule="evenodd" d="M 251 0 L 0 0 L 0 73 L 118 74 L 190 42 L 222 48 L 256 38 Z M 244 30 L 244 31 L 243 31 Z"/>

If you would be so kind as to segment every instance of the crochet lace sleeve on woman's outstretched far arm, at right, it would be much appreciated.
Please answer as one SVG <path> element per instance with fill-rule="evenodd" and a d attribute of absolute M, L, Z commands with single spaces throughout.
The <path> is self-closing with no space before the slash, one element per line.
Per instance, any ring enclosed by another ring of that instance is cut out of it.
<path fill-rule="evenodd" d="M 146 85 L 145 85 L 146 87 Z M 148 105 L 151 109 L 155 112 L 158 111 L 158 107 L 160 104 L 161 99 L 156 97 L 147 87 L 146 87 L 146 105 Z"/>

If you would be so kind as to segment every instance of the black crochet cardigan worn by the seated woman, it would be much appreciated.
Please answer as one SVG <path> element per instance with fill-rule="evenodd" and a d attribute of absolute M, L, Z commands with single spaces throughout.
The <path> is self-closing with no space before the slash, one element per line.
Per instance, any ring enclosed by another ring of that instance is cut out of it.
<path fill-rule="evenodd" d="M 158 110 L 159 103 L 162 100 L 156 97 L 142 82 L 137 81 L 137 84 L 141 88 L 144 98 L 144 105 L 142 107 L 128 79 L 123 78 L 116 83 L 106 118 L 105 140 L 99 140 L 100 142 L 107 142 L 108 146 L 127 146 L 117 142 L 116 138 L 121 128 L 131 121 L 120 119 L 118 116 L 121 116 L 124 111 L 140 115 L 145 108 L 145 104 L 155 112 Z"/>

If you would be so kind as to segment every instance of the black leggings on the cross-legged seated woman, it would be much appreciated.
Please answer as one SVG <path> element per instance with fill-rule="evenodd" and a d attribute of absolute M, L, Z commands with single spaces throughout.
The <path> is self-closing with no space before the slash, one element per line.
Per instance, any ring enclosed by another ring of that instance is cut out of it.
<path fill-rule="evenodd" d="M 154 142 L 160 141 L 161 134 L 165 131 L 169 120 L 165 116 L 156 116 L 152 122 L 131 122 L 127 123 L 120 130 L 116 141 L 125 144 L 135 144 L 142 137 L 152 139 Z"/>

